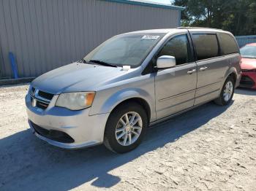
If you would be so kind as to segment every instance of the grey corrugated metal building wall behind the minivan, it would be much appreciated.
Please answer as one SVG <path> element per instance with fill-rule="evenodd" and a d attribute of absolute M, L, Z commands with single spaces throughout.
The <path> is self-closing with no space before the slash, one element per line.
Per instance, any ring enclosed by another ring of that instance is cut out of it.
<path fill-rule="evenodd" d="M 110 36 L 176 28 L 182 7 L 132 0 L 0 0 L 0 79 L 40 74 L 78 61 Z"/>

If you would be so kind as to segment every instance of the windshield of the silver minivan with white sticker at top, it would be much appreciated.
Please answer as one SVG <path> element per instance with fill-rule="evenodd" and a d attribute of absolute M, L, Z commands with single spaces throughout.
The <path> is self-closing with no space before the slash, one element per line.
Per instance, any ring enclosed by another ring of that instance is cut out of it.
<path fill-rule="evenodd" d="M 124 34 L 114 36 L 86 55 L 87 63 L 109 63 L 136 68 L 144 61 L 164 34 Z"/>

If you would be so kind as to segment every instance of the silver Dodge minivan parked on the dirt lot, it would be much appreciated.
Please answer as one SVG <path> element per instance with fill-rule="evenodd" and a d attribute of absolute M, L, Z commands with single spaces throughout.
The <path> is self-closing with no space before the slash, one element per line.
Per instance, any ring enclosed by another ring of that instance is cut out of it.
<path fill-rule="evenodd" d="M 113 152 L 129 152 L 150 125 L 208 101 L 229 104 L 241 78 L 240 61 L 234 36 L 217 29 L 113 36 L 81 61 L 31 82 L 29 125 L 57 147 L 104 143 Z"/>

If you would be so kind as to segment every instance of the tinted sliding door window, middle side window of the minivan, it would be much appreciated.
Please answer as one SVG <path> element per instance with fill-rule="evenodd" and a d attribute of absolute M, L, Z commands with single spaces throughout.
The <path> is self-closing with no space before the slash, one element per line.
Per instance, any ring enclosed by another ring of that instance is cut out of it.
<path fill-rule="evenodd" d="M 219 45 L 216 34 L 192 34 L 197 61 L 219 56 Z"/>

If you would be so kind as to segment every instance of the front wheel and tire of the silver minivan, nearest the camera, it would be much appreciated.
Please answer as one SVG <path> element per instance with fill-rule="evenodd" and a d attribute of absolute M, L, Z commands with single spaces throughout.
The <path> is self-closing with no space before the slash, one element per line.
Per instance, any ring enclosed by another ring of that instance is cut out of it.
<path fill-rule="evenodd" d="M 127 125 L 127 117 L 129 122 L 131 122 L 129 125 Z M 135 124 L 132 124 L 132 117 Z M 108 118 L 104 135 L 105 147 L 112 152 L 129 152 L 138 147 L 146 133 L 147 127 L 148 117 L 140 104 L 136 102 L 121 104 L 111 112 Z"/>

